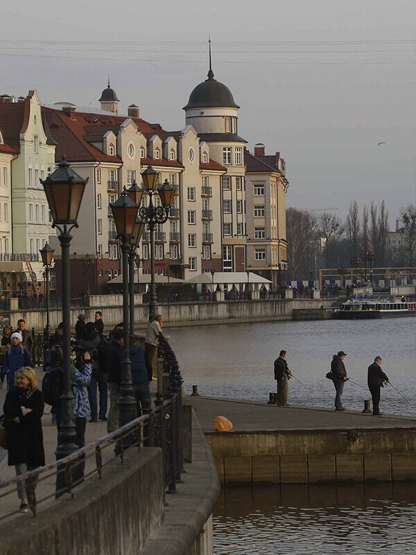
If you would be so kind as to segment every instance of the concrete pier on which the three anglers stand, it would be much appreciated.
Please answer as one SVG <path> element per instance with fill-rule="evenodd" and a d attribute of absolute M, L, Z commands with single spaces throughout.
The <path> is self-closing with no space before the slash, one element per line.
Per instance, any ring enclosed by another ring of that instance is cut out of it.
<path fill-rule="evenodd" d="M 416 480 L 416 418 L 191 398 L 223 484 Z M 232 421 L 215 432 L 214 418 Z"/>

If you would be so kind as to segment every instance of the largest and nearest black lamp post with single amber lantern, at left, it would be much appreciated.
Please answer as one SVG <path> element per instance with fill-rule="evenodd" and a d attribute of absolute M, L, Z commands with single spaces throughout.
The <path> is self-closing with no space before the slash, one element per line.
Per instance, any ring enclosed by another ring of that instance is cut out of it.
<path fill-rule="evenodd" d="M 44 186 L 46 199 L 51 210 L 53 228 L 58 228 L 58 239 L 62 250 L 62 321 L 63 321 L 63 370 L 64 384 L 62 393 L 62 416 L 58 434 L 58 447 L 55 451 L 56 459 L 62 459 L 75 452 L 76 429 L 73 420 L 73 393 L 71 386 L 71 327 L 70 327 L 70 268 L 69 246 L 71 244 L 71 230 L 78 228 L 78 212 L 85 185 L 88 178 L 83 179 L 73 171 L 67 160 L 62 158 L 58 168 L 45 180 L 40 180 Z M 57 477 L 58 480 L 58 477 Z M 62 480 L 62 479 L 61 479 Z M 58 486 L 57 486 L 58 487 Z"/>

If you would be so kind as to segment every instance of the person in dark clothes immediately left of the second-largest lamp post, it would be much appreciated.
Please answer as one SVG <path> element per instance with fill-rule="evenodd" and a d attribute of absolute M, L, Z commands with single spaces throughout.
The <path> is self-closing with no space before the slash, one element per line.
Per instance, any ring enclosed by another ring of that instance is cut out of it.
<path fill-rule="evenodd" d="M 110 434 L 119 427 L 119 398 L 121 397 L 121 362 L 124 352 L 124 331 L 121 327 L 114 330 L 113 339 L 107 347 L 108 393 L 110 409 L 108 411 L 107 432 Z"/>

